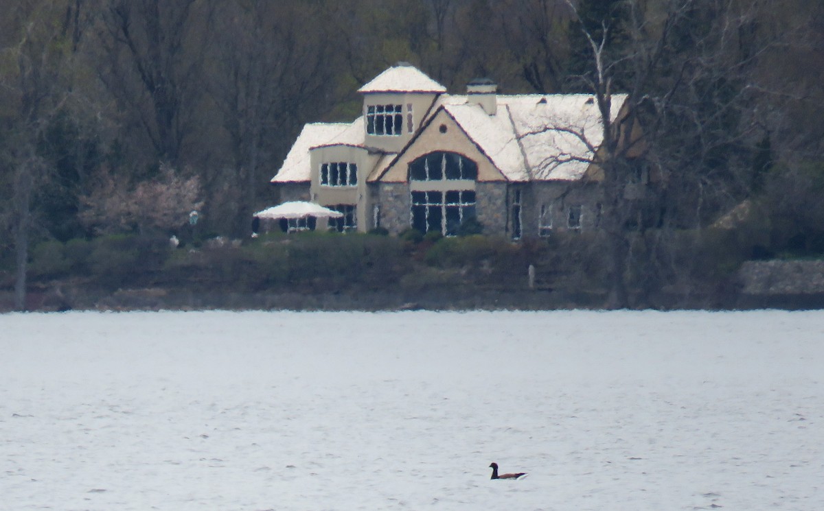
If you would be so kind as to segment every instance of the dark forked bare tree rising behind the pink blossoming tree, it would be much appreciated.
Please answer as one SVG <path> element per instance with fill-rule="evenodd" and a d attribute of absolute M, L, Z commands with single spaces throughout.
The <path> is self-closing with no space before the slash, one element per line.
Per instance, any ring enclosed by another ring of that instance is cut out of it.
<path fill-rule="evenodd" d="M 207 6 L 199 0 L 102 0 L 98 72 L 154 155 L 176 165 L 201 93 Z"/>

